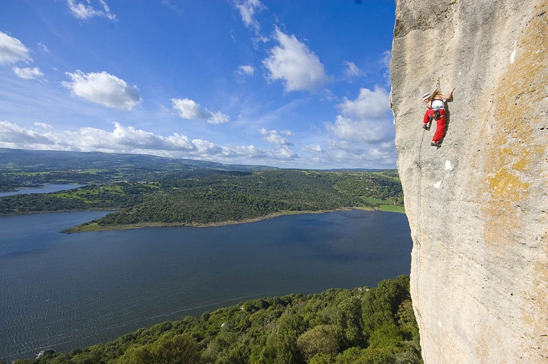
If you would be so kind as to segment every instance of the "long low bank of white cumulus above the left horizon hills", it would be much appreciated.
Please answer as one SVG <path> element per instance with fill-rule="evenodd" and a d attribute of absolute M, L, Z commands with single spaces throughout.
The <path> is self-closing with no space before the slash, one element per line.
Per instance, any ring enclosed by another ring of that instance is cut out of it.
<path fill-rule="evenodd" d="M 251 160 L 287 161 L 296 157 L 286 145 L 273 150 L 257 148 L 252 144 L 223 146 L 208 140 L 190 140 L 181 133 L 158 135 L 134 127 L 124 127 L 118 122 L 114 123 L 112 131 L 92 127 L 84 127 L 77 131 L 56 131 L 42 122 L 35 123 L 35 126 L 38 129 L 25 129 L 12 122 L 0 121 L 0 147 L 141 153 L 231 163 Z"/>

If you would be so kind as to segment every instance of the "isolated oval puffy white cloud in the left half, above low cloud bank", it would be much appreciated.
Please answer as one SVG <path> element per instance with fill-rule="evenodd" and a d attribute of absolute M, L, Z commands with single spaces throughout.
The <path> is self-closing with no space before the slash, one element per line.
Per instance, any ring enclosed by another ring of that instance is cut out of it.
<path fill-rule="evenodd" d="M 72 81 L 62 85 L 88 101 L 121 110 L 131 110 L 142 101 L 136 86 L 129 86 L 123 79 L 106 72 L 86 74 L 76 70 L 66 75 Z"/>

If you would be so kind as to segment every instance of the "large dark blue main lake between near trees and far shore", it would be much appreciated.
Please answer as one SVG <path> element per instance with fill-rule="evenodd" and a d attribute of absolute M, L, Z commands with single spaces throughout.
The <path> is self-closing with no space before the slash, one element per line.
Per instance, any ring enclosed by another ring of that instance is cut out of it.
<path fill-rule="evenodd" d="M 253 298 L 409 274 L 403 213 L 61 234 L 104 211 L 0 218 L 0 361 L 103 343 Z"/>

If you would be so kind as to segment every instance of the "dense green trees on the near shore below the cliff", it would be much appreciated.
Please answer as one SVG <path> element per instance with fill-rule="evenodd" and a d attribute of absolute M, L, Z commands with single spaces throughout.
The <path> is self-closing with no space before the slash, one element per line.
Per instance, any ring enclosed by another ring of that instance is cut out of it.
<path fill-rule="evenodd" d="M 15 364 L 422 363 L 409 277 L 250 300 Z"/>

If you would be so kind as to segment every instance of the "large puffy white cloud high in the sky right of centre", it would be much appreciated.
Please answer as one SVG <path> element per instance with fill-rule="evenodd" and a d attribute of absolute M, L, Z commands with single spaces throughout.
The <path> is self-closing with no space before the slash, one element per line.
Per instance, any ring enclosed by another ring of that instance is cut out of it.
<path fill-rule="evenodd" d="M 284 82 L 286 92 L 314 92 L 329 81 L 319 57 L 306 44 L 278 28 L 275 30 L 275 38 L 279 45 L 271 49 L 270 57 L 262 61 L 269 70 L 269 80 Z"/>

